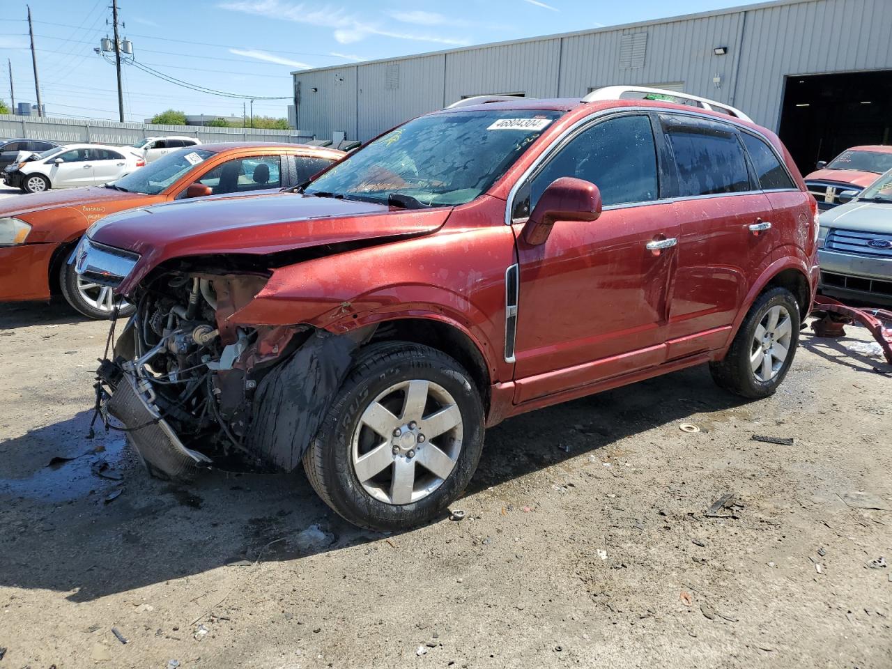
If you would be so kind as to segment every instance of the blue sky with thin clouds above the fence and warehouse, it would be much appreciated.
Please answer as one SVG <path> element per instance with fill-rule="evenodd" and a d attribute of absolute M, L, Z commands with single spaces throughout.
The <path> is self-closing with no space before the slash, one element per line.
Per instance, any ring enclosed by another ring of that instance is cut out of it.
<path fill-rule="evenodd" d="M 752 2 L 752 0 L 750 0 Z M 114 67 L 93 52 L 111 34 L 110 0 L 31 0 L 41 95 L 48 115 L 118 118 Z M 361 62 L 749 4 L 747 0 L 120 0 L 136 61 L 189 84 L 258 97 L 291 95 L 291 70 Z M 0 4 L 0 98 L 35 101 L 25 5 Z M 169 107 L 242 113 L 242 101 L 124 68 L 126 120 Z M 285 116 L 287 100 L 257 100 Z"/>

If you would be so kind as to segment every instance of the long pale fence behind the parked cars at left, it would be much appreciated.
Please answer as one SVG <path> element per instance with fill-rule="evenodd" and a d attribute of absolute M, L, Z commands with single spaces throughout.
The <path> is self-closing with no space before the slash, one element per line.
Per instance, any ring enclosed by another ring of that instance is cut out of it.
<path fill-rule="evenodd" d="M 288 142 L 300 144 L 315 136 L 300 130 L 264 128 L 208 128 L 206 126 L 155 126 L 149 123 L 118 123 L 113 120 L 72 120 L 0 114 L 0 137 L 50 139 L 75 144 L 128 145 L 146 136 L 182 135 L 209 142 Z"/>

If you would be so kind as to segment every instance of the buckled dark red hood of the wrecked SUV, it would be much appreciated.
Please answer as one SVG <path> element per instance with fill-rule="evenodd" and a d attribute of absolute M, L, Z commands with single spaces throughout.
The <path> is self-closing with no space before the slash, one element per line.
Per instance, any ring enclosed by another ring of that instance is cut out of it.
<path fill-rule="evenodd" d="M 323 244 L 434 232 L 450 208 L 387 205 L 292 193 L 159 204 L 109 216 L 91 229 L 99 244 L 139 253 L 120 285 L 128 293 L 159 263 L 219 253 L 265 254 Z"/>

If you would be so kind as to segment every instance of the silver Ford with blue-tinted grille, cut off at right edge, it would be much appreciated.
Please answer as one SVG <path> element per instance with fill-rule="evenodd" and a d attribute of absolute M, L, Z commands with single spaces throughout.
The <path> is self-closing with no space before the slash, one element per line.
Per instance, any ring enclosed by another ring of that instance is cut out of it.
<path fill-rule="evenodd" d="M 892 304 L 892 169 L 861 194 L 821 214 L 818 290 L 834 297 Z"/>

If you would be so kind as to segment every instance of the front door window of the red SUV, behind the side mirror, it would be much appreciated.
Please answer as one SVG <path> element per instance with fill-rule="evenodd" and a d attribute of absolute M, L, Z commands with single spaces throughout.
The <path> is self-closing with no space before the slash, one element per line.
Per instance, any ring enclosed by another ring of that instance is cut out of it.
<path fill-rule="evenodd" d="M 605 206 L 657 199 L 657 149 L 647 116 L 628 115 L 599 122 L 558 149 L 517 195 L 513 217 L 522 219 L 541 194 L 561 177 L 598 186 Z"/>

